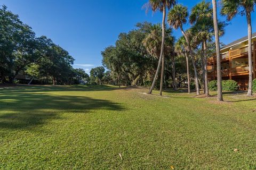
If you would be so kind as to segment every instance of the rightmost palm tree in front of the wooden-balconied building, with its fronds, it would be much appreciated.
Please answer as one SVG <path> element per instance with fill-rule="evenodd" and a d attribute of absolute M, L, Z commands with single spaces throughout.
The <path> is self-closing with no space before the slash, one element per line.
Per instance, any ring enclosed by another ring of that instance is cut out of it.
<path fill-rule="evenodd" d="M 221 14 L 227 16 L 230 21 L 237 14 L 246 15 L 248 28 L 248 61 L 249 61 L 249 83 L 247 96 L 252 96 L 252 24 L 251 13 L 254 11 L 255 0 L 222 0 Z"/>

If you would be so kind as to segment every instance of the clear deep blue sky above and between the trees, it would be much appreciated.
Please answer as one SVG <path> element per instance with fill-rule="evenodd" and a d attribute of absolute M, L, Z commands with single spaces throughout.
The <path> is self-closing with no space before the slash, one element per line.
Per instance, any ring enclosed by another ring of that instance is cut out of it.
<path fill-rule="evenodd" d="M 45 35 L 66 49 L 76 60 L 74 67 L 89 73 L 92 67 L 101 65 L 100 52 L 114 45 L 119 33 L 133 29 L 137 22 L 162 21 L 161 13 L 145 13 L 142 6 L 146 2 L 148 0 L 2 0 L 0 4 L 18 14 L 37 36 Z M 179 0 L 189 8 L 198 2 Z M 255 13 L 252 30 L 256 31 Z M 180 35 L 180 30 L 174 31 L 175 37 Z M 228 44 L 246 35 L 246 18 L 237 16 L 226 27 L 221 41 Z"/>

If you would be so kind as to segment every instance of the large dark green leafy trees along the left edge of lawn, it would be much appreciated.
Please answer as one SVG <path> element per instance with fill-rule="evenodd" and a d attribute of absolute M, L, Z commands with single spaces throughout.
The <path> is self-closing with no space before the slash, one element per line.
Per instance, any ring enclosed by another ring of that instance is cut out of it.
<path fill-rule="evenodd" d="M 0 7 L 0 83 L 13 83 L 23 72 L 31 78 L 26 83 L 78 84 L 89 75 L 73 63 L 65 49 L 45 36 L 36 37 L 18 15 Z"/>

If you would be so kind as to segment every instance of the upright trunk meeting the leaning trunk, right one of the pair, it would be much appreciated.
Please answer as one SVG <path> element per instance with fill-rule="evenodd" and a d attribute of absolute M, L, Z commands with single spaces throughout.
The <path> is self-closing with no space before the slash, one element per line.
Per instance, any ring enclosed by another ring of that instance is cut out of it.
<path fill-rule="evenodd" d="M 162 21 L 162 45 L 161 45 L 161 54 L 162 54 L 162 71 L 161 71 L 161 82 L 160 82 L 160 91 L 159 95 L 162 96 L 163 90 L 163 79 L 164 79 L 164 40 L 165 40 L 165 16 L 166 16 L 166 7 L 164 3 L 163 8 L 163 21 Z M 161 55 L 160 54 L 160 55 Z"/>

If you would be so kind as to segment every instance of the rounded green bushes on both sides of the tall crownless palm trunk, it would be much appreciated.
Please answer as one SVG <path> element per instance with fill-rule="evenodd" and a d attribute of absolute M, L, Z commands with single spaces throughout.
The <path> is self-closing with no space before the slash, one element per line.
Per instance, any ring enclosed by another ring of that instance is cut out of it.
<path fill-rule="evenodd" d="M 209 90 L 216 91 L 218 90 L 217 80 L 210 81 L 208 84 Z M 256 81 L 255 81 L 256 88 Z M 223 91 L 236 91 L 238 90 L 238 84 L 234 80 L 222 80 L 222 90 Z"/>

